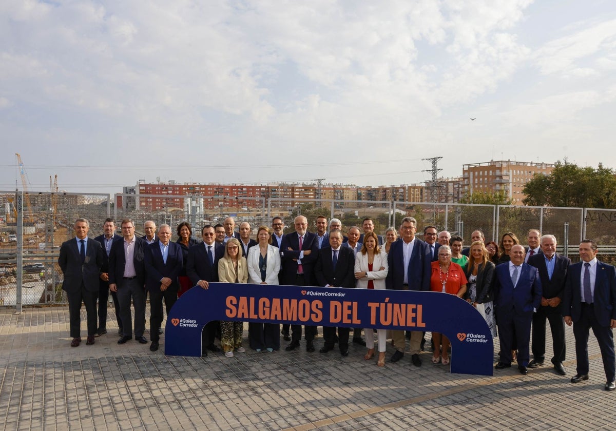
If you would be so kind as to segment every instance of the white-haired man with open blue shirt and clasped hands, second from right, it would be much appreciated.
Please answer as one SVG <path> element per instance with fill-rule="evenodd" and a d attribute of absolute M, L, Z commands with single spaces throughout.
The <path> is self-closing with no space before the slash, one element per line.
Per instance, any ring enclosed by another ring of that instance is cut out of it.
<path fill-rule="evenodd" d="M 533 360 L 529 368 L 543 365 L 545 360 L 545 321 L 549 321 L 552 332 L 554 371 L 564 376 L 562 366 L 565 360 L 565 323 L 562 320 L 562 294 L 565 290 L 567 269 L 571 265 L 569 257 L 556 254 L 556 236 L 541 236 L 541 254 L 530 257 L 528 264 L 537 268 L 541 280 L 541 305 L 533 314 L 533 339 L 531 350 Z"/>

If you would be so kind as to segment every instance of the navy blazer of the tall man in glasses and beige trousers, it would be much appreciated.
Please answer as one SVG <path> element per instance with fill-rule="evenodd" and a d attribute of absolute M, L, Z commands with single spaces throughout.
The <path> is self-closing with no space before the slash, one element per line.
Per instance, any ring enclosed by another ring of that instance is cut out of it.
<path fill-rule="evenodd" d="M 387 254 L 389 272 L 385 279 L 387 289 L 402 289 L 404 283 L 403 240 L 394 241 Z M 408 290 L 430 291 L 430 276 L 432 260 L 426 251 L 427 244 L 415 237 L 415 246 L 408 262 Z"/>

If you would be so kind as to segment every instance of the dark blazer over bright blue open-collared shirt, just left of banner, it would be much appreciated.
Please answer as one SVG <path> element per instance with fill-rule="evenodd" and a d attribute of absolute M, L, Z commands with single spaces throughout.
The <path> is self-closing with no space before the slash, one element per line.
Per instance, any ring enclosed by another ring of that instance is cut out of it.
<path fill-rule="evenodd" d="M 171 278 L 168 289 L 179 290 L 180 285 L 177 276 L 182 270 L 182 248 L 180 244 L 169 241 L 167 263 L 163 261 L 163 253 L 160 251 L 160 243 L 154 241 L 145 248 L 145 288 L 148 291 L 160 292 L 160 280 L 163 277 Z"/>

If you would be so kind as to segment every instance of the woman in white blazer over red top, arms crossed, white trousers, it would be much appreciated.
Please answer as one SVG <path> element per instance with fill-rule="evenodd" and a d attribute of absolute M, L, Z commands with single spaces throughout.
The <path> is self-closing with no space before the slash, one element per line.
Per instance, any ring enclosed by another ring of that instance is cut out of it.
<path fill-rule="evenodd" d="M 362 249 L 355 255 L 355 278 L 359 289 L 385 289 L 385 277 L 389 271 L 387 265 L 387 253 L 378 245 L 378 236 L 374 232 L 368 232 L 363 236 Z M 366 347 L 368 352 L 363 358 L 370 360 L 375 355 L 375 337 L 371 329 L 364 328 Z M 376 339 L 379 344 L 379 359 L 376 365 L 385 365 L 385 341 L 386 329 L 377 329 Z"/>

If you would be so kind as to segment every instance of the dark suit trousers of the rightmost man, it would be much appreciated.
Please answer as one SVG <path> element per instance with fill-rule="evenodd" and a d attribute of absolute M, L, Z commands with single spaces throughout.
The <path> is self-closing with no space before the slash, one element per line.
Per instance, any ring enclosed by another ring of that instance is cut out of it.
<path fill-rule="evenodd" d="M 614 355 L 614 335 L 612 328 L 601 326 L 594 315 L 593 304 L 582 304 L 582 313 L 577 322 L 573 322 L 573 336 L 575 336 L 575 357 L 577 359 L 577 373 L 588 374 L 588 332 L 593 328 L 593 334 L 599 343 L 603 369 L 606 379 L 613 382 L 616 377 L 616 356 Z"/>

